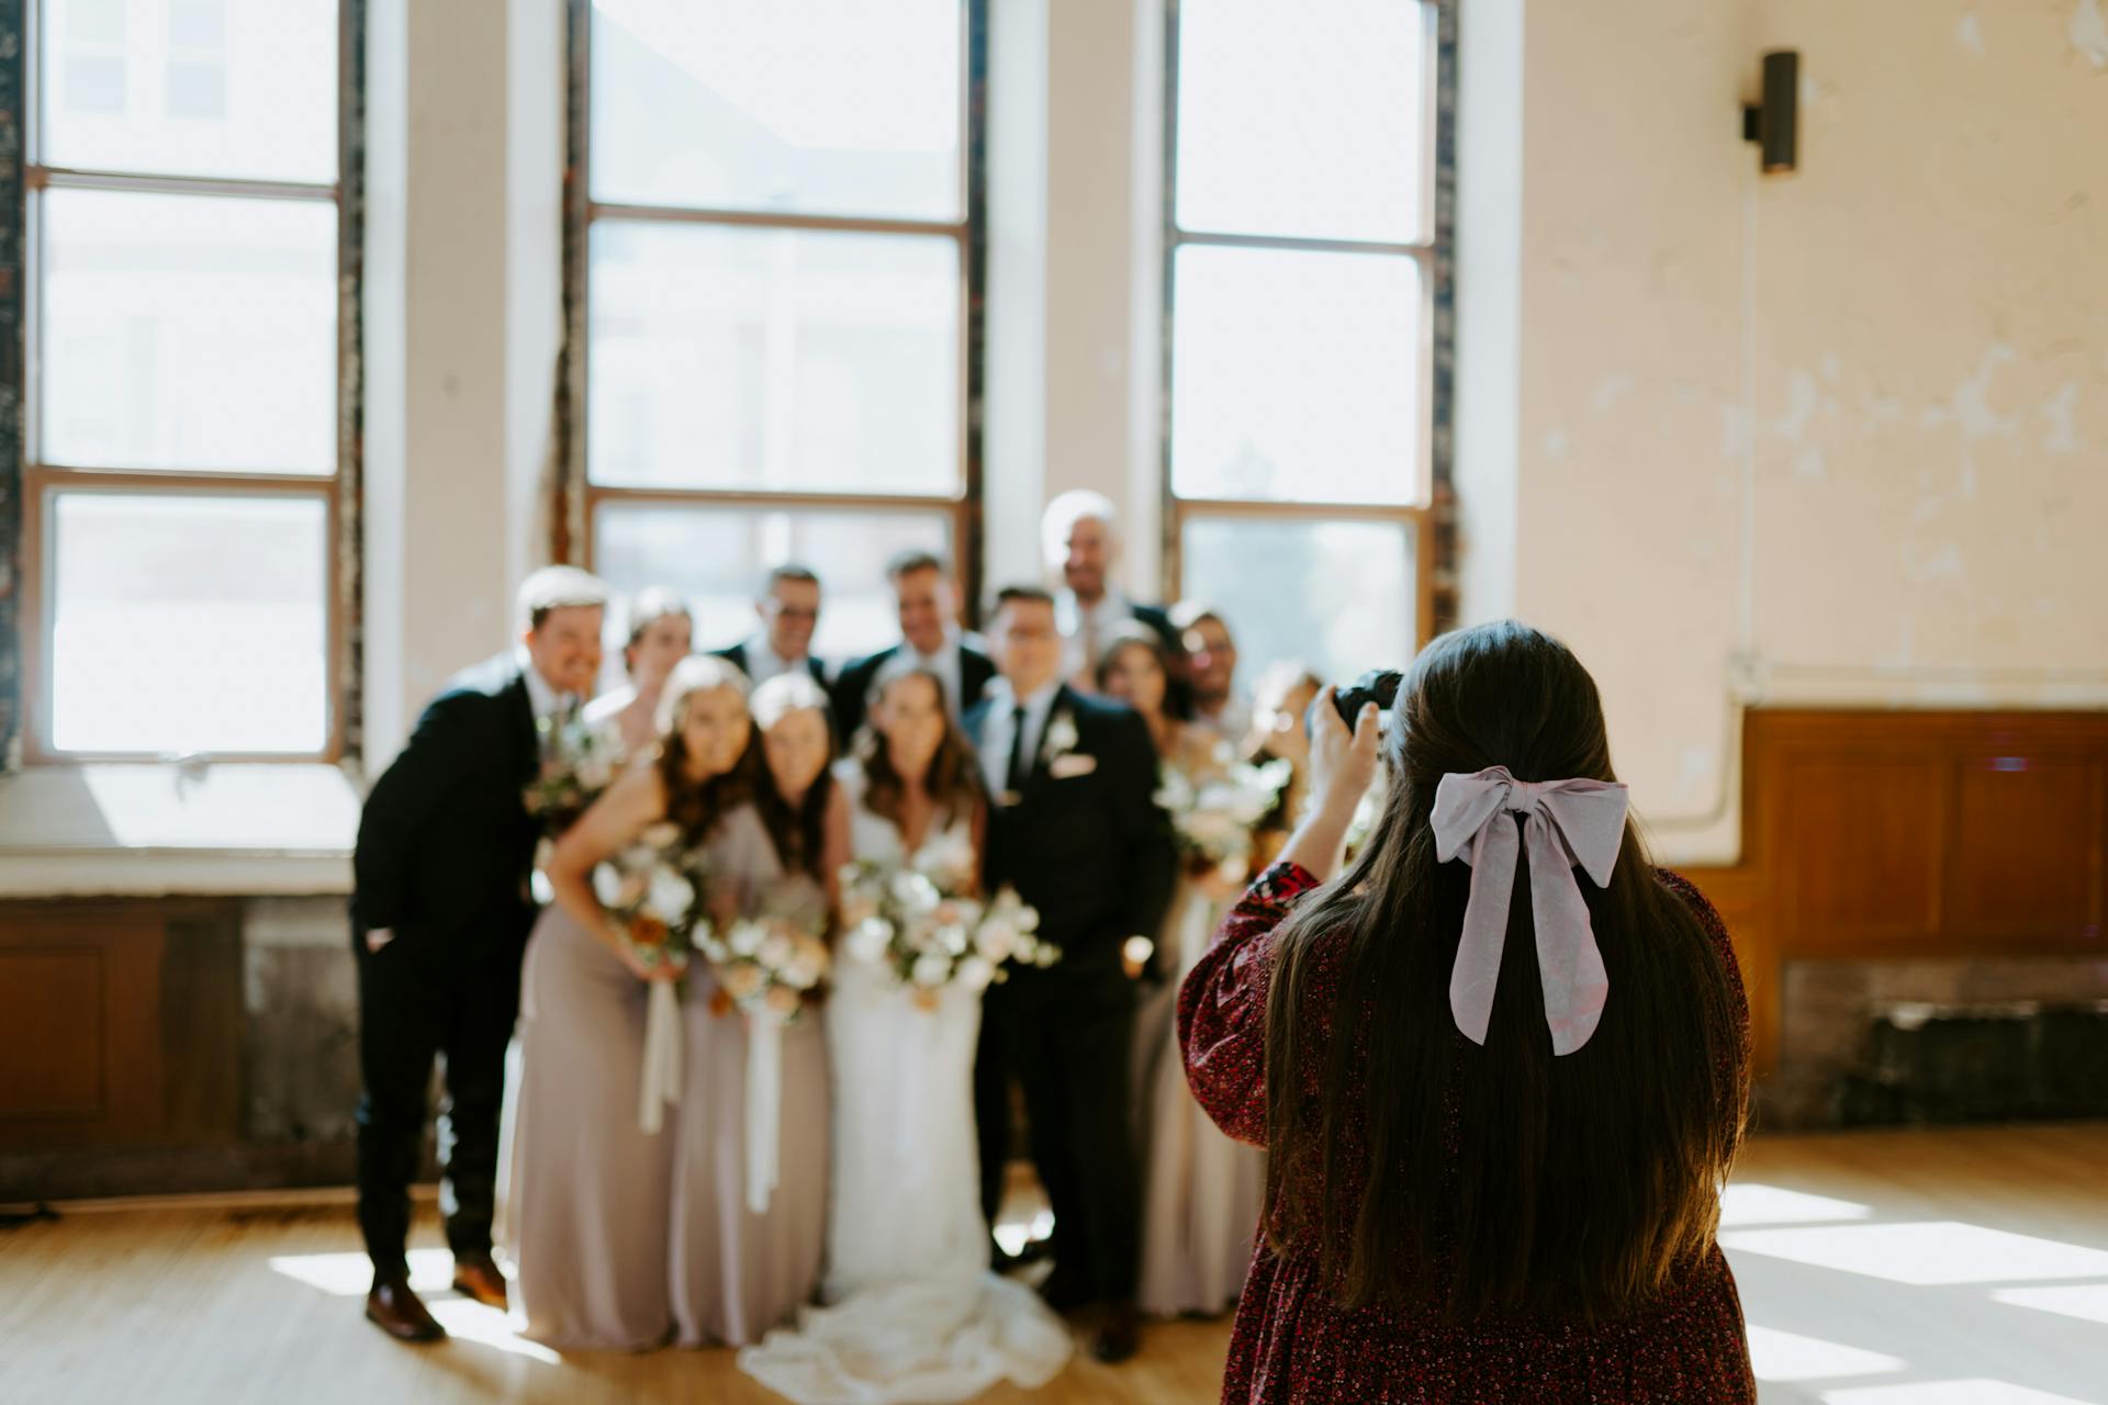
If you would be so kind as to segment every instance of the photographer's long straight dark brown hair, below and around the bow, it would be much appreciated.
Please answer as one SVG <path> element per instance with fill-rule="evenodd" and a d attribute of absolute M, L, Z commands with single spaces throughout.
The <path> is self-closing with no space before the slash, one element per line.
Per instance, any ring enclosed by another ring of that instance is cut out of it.
<path fill-rule="evenodd" d="M 1524 857 L 1478 1047 L 1448 1007 L 1469 868 L 1440 864 L 1429 828 L 1450 771 L 1615 779 L 1596 682 L 1514 621 L 1448 634 L 1400 689 L 1383 765 L 1389 803 L 1362 855 L 1275 937 L 1269 1241 L 1315 1255 L 1349 1308 L 1640 1308 L 1718 1226 L 1748 1106 L 1733 975 L 1627 822 L 1611 885 L 1581 883 L 1611 977 L 1596 1034 L 1551 1055 Z M 1322 1192 L 1299 1196 L 1313 1180 Z"/>

